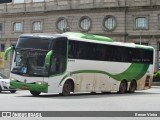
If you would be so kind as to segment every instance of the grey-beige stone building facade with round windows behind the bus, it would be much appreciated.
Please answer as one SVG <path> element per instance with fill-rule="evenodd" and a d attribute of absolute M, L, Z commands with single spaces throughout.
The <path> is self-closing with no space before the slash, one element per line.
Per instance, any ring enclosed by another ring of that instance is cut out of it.
<path fill-rule="evenodd" d="M 155 70 L 160 66 L 160 0 L 13 0 L 0 4 L 1 51 L 15 45 L 23 33 L 64 31 L 153 46 Z M 0 72 L 9 74 L 10 59 Z"/>

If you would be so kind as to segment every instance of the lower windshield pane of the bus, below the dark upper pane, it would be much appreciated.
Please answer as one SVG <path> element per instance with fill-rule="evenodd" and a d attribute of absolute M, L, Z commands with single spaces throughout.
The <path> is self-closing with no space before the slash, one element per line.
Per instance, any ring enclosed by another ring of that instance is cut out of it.
<path fill-rule="evenodd" d="M 16 49 L 11 72 L 29 76 L 47 76 L 48 68 L 44 64 L 46 53 L 47 51 Z"/>

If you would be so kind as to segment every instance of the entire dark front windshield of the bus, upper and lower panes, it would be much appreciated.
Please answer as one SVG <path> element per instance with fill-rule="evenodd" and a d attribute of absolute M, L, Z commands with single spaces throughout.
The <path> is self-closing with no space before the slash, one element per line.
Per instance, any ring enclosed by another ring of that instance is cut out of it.
<path fill-rule="evenodd" d="M 29 76 L 48 76 L 45 56 L 51 40 L 47 38 L 22 37 L 15 47 L 12 73 Z"/>

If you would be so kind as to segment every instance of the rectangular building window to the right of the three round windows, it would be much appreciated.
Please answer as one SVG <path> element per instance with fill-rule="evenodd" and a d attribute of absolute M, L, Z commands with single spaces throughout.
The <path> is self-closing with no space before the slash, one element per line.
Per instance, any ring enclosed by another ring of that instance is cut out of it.
<path fill-rule="evenodd" d="M 136 18 L 136 29 L 147 29 L 147 18 L 146 17 L 138 17 Z"/>

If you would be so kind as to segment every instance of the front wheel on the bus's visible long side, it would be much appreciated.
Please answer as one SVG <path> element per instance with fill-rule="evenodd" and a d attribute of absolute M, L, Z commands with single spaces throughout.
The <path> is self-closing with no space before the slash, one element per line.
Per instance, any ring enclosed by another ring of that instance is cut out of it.
<path fill-rule="evenodd" d="M 71 92 L 71 83 L 70 81 L 67 80 L 63 85 L 62 95 L 68 96 L 70 95 L 70 92 Z"/>

